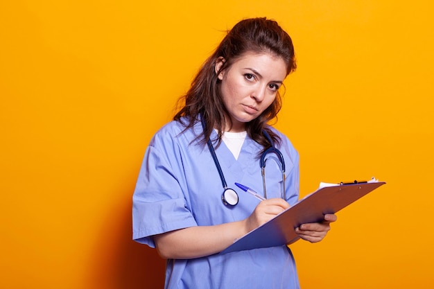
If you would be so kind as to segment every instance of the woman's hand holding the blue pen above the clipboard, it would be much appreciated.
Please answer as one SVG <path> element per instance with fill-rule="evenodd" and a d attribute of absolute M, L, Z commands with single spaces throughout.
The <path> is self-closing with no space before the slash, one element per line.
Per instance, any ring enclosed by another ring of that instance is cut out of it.
<path fill-rule="evenodd" d="M 261 201 L 253 213 L 245 219 L 246 231 L 252 231 L 268 222 L 282 211 L 289 208 L 288 202 L 281 198 L 272 198 Z"/>

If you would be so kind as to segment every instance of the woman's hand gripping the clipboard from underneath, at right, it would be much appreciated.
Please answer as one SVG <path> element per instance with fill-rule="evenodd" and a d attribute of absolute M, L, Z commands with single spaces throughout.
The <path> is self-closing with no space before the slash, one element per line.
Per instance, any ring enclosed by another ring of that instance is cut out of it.
<path fill-rule="evenodd" d="M 313 222 L 309 224 L 302 224 L 300 227 L 295 228 L 295 233 L 303 240 L 308 240 L 311 243 L 320 242 L 330 230 L 330 223 L 335 222 L 338 217 L 332 213 L 324 215 L 322 222 Z"/>

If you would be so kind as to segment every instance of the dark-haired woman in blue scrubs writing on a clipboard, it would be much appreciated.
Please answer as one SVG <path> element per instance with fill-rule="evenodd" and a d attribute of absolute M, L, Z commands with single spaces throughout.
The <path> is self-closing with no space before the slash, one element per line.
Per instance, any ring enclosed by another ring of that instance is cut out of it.
<path fill-rule="evenodd" d="M 150 141 L 133 195 L 133 239 L 167 259 L 165 288 L 300 287 L 284 245 L 218 254 L 298 200 L 299 156 L 268 125 L 295 67 L 293 43 L 277 22 L 238 22 L 198 71 L 173 121 Z M 286 164 L 286 182 L 270 155 L 266 200 L 234 187 L 263 192 L 259 158 L 272 146 Z M 222 201 L 225 184 L 236 191 L 234 205 Z M 296 231 L 315 243 L 335 220 L 328 214 Z"/>

